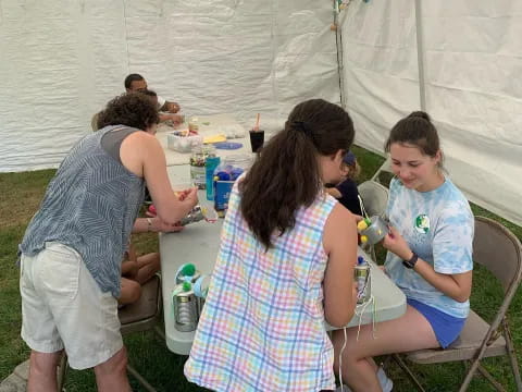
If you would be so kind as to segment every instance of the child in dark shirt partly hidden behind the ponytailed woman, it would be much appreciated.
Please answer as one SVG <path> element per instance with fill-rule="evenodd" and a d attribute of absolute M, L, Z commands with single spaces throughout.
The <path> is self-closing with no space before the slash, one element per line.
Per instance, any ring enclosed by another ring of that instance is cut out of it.
<path fill-rule="evenodd" d="M 326 192 L 334 196 L 339 203 L 352 213 L 362 216 L 359 191 L 355 179 L 361 172 L 353 152 L 346 152 L 341 163 L 343 180 L 335 187 L 326 187 Z"/>

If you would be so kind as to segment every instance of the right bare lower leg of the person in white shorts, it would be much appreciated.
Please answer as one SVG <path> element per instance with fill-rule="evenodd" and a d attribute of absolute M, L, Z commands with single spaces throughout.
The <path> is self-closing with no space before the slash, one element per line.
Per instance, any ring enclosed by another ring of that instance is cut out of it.
<path fill-rule="evenodd" d="M 127 378 L 127 351 L 122 347 L 103 364 L 95 366 L 98 392 L 132 392 Z"/>

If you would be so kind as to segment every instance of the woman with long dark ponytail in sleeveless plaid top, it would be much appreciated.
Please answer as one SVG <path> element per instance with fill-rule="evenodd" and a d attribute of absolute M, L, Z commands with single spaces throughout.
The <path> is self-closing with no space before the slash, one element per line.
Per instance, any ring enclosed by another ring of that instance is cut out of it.
<path fill-rule="evenodd" d="M 215 391 L 335 388 L 324 320 L 341 327 L 353 315 L 357 228 L 324 184 L 340 180 L 353 135 L 343 108 L 301 102 L 236 181 L 189 381 Z"/>

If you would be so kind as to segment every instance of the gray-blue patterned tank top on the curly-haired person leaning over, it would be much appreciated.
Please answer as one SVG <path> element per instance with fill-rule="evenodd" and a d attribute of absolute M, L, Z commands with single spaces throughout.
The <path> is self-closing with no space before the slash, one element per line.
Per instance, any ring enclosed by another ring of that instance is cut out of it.
<path fill-rule="evenodd" d="M 116 298 L 123 254 L 144 203 L 144 179 L 120 160 L 120 145 L 134 132 L 140 131 L 107 126 L 79 140 L 50 182 L 20 245 L 27 256 L 50 241 L 74 248 L 101 291 Z"/>

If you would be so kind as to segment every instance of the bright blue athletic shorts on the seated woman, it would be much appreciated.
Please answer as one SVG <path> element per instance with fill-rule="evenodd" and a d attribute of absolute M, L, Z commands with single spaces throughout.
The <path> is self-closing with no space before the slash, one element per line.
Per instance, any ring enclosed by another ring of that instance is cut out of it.
<path fill-rule="evenodd" d="M 415 299 L 407 298 L 407 303 L 426 318 L 443 348 L 453 343 L 464 328 L 465 318 L 450 316 Z"/>

